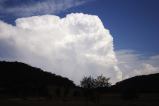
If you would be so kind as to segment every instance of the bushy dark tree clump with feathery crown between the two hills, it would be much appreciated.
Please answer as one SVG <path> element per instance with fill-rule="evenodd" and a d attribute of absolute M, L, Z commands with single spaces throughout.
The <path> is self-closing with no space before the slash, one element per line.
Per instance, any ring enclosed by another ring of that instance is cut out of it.
<path fill-rule="evenodd" d="M 81 81 L 81 87 L 83 88 L 101 88 L 101 87 L 110 87 L 111 83 L 109 82 L 110 78 L 106 78 L 103 75 L 93 78 L 91 76 L 84 77 Z"/>

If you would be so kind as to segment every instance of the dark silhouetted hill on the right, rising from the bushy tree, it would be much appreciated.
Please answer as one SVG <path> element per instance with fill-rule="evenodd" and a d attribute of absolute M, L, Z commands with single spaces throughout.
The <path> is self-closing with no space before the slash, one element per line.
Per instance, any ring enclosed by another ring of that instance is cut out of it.
<path fill-rule="evenodd" d="M 135 76 L 118 82 L 112 88 L 118 91 L 159 92 L 159 73 Z"/>

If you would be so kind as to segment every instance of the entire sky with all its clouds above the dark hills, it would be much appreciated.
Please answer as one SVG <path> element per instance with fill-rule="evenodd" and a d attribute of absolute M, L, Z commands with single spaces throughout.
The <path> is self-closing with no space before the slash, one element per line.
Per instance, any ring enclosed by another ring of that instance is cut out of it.
<path fill-rule="evenodd" d="M 0 59 L 76 84 L 84 75 L 115 83 L 157 73 L 158 10 L 158 0 L 1 0 Z"/>

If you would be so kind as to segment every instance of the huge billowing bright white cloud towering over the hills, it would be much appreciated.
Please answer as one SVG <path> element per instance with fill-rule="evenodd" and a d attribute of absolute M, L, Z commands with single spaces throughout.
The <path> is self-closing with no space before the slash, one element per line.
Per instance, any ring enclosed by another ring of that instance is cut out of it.
<path fill-rule="evenodd" d="M 121 80 L 113 38 L 98 16 L 72 13 L 0 21 L 1 60 L 21 61 L 72 79 L 105 75 Z M 5 53 L 7 52 L 7 53 Z"/>

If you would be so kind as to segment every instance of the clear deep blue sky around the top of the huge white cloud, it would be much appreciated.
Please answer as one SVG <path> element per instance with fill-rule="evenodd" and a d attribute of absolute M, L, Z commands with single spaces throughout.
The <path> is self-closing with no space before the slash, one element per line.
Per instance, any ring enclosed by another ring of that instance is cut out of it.
<path fill-rule="evenodd" d="M 30 5 L 37 2 L 36 0 L 4 1 L 1 5 L 5 8 L 23 6 L 24 4 Z M 3 10 L 0 11 L 0 19 L 13 24 L 16 18 L 30 15 L 56 14 L 64 17 L 72 12 L 94 14 L 98 15 L 104 26 L 110 30 L 114 38 L 115 50 L 130 49 L 145 55 L 154 55 L 159 53 L 158 10 L 158 0 L 87 0 L 87 2 L 84 1 L 80 5 L 65 10 L 38 11 L 24 16 L 18 16 L 14 12 L 9 13 Z"/>

